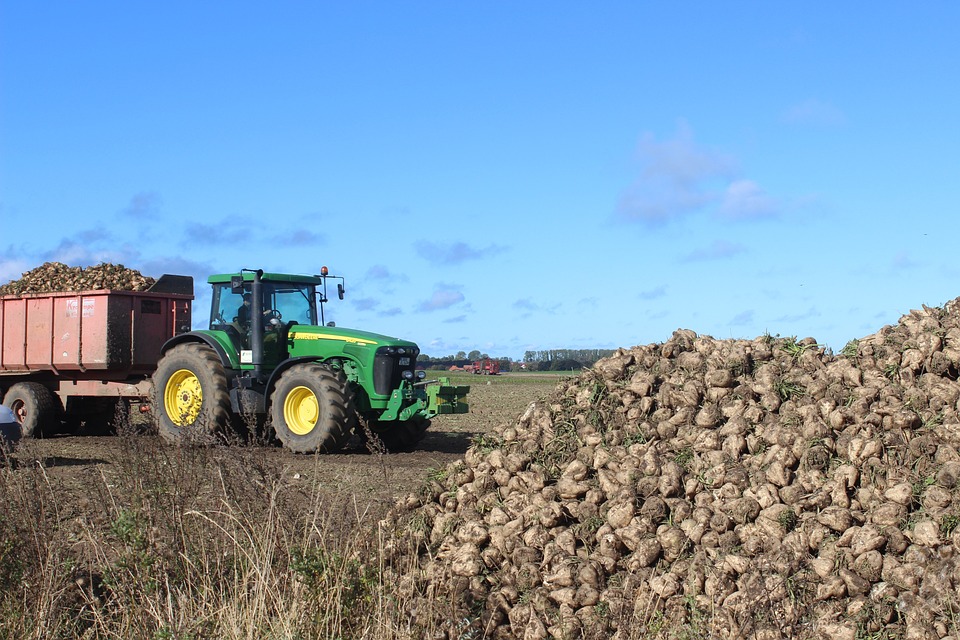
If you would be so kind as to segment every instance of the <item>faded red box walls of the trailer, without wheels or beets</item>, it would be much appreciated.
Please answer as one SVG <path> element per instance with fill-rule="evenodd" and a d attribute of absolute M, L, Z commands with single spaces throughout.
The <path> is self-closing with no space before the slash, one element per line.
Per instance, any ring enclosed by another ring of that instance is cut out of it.
<path fill-rule="evenodd" d="M 190 330 L 192 299 L 109 290 L 2 296 L 0 375 L 149 375 L 163 343 Z"/>

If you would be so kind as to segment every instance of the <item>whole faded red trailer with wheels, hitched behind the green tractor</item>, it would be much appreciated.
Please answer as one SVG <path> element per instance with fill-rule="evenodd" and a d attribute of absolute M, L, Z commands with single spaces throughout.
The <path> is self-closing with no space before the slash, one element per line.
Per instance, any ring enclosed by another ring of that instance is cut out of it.
<path fill-rule="evenodd" d="M 33 435 L 146 400 L 160 349 L 190 331 L 193 278 L 147 291 L 0 296 L 0 396 Z"/>

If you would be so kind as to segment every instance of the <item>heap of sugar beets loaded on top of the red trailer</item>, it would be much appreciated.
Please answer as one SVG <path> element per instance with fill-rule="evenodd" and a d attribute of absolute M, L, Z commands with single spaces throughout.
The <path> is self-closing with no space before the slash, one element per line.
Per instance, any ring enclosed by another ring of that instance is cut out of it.
<path fill-rule="evenodd" d="M 20 296 L 29 293 L 60 291 L 145 291 L 156 282 L 136 269 L 122 264 L 102 263 L 87 267 L 70 267 L 62 262 L 45 262 L 24 273 L 19 280 L 0 285 L 0 295 Z"/>

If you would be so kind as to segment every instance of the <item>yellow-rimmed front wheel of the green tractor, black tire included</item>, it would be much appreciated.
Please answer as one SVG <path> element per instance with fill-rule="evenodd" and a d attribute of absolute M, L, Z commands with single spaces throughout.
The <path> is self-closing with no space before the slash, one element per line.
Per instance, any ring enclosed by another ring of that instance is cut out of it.
<path fill-rule="evenodd" d="M 353 390 L 343 378 L 316 363 L 284 371 L 270 398 L 274 433 L 296 453 L 339 451 L 357 423 Z"/>

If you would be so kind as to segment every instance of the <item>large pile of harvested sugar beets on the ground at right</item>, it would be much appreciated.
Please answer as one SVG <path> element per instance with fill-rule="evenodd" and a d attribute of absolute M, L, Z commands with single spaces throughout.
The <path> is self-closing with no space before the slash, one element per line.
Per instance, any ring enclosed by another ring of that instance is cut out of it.
<path fill-rule="evenodd" d="M 957 637 L 958 374 L 960 299 L 837 355 L 686 330 L 621 349 L 381 523 L 411 624 Z"/>

